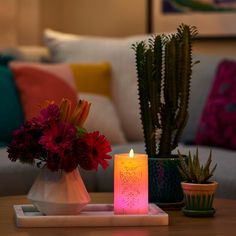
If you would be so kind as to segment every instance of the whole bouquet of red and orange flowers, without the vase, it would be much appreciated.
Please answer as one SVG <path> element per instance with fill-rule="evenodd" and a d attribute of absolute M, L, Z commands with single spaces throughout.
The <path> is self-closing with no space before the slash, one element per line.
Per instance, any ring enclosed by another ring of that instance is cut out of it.
<path fill-rule="evenodd" d="M 86 170 L 108 166 L 109 142 L 99 132 L 87 134 L 82 124 L 90 103 L 79 101 L 71 111 L 71 102 L 50 103 L 40 114 L 13 133 L 8 146 L 11 161 L 46 166 L 51 171 L 70 172 L 80 165 Z"/>

